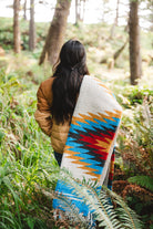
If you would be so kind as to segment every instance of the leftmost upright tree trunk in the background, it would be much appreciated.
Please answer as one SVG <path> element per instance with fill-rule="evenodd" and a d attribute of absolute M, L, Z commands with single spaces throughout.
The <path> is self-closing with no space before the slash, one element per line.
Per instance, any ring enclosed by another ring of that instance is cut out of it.
<path fill-rule="evenodd" d="M 19 11 L 20 11 L 20 0 L 13 1 L 13 50 L 16 53 L 20 53 L 20 24 L 19 24 Z"/>

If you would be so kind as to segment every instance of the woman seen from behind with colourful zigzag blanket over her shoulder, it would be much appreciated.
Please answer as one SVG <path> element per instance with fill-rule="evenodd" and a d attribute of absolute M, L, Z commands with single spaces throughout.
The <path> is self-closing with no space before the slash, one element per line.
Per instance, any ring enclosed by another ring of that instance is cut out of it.
<path fill-rule="evenodd" d="M 112 185 L 113 148 L 121 114 L 122 108 L 112 92 L 101 81 L 89 76 L 83 45 L 76 40 L 68 41 L 61 49 L 53 77 L 39 87 L 35 119 L 51 136 L 61 168 L 65 167 L 75 179 L 96 180 L 98 191 L 103 184 L 109 188 Z M 84 217 L 92 217 L 74 187 L 74 183 L 70 185 L 59 179 L 55 191 L 70 198 Z M 53 199 L 53 209 L 63 210 L 64 202 Z"/>

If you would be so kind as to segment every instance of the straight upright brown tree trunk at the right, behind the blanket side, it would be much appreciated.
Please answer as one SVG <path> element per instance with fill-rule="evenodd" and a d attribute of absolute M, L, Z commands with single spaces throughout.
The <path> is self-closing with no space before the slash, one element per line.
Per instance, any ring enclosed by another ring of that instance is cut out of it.
<path fill-rule="evenodd" d="M 129 37 L 130 37 L 130 73 L 131 84 L 136 85 L 142 75 L 140 53 L 139 1 L 130 1 Z"/>

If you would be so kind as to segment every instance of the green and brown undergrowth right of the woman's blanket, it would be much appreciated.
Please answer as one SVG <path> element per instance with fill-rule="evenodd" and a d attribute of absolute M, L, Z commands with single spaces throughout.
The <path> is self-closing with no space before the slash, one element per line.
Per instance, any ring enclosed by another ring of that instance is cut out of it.
<path fill-rule="evenodd" d="M 150 228 L 152 202 L 152 100 L 150 87 L 130 86 L 116 97 L 124 106 L 121 129 L 118 138 L 118 169 L 115 185 L 129 206 L 142 218 L 144 228 Z M 122 159 L 121 159 L 122 158 Z M 121 163 L 120 163 L 121 162 Z M 125 183 L 128 179 L 129 183 Z M 119 184 L 119 185 L 118 185 Z M 120 186 L 120 184 L 125 184 Z M 121 187 L 121 189 L 120 189 Z"/>

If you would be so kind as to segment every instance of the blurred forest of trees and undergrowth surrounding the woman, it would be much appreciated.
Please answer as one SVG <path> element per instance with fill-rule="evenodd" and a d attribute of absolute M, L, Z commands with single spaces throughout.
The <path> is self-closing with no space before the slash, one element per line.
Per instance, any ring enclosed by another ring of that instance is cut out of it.
<path fill-rule="evenodd" d="M 108 207 L 102 198 L 96 209 L 98 221 L 103 228 L 152 229 L 152 2 L 1 0 L 0 14 L 3 2 L 8 17 L 0 17 L 0 228 L 55 229 L 74 228 L 74 225 L 89 228 L 71 202 L 68 207 L 73 220 L 53 218 L 51 202 L 59 168 L 50 138 L 33 117 L 40 83 L 51 76 L 63 42 L 76 38 L 85 46 L 91 75 L 101 79 L 123 107 L 114 192 L 110 192 L 121 225 L 108 226 L 114 219 L 111 215 L 105 218 L 101 215 L 102 206 Z M 96 10 L 88 18 L 90 4 Z M 39 12 L 39 22 L 34 18 L 38 6 L 43 9 Z M 44 9 L 50 11 L 48 22 Z M 93 187 L 88 185 L 88 188 L 91 191 Z M 81 197 L 81 190 L 78 195 Z M 88 195 L 83 198 L 89 201 Z M 90 206 L 93 209 L 92 202 Z M 134 212 L 141 226 L 136 226 Z"/>

